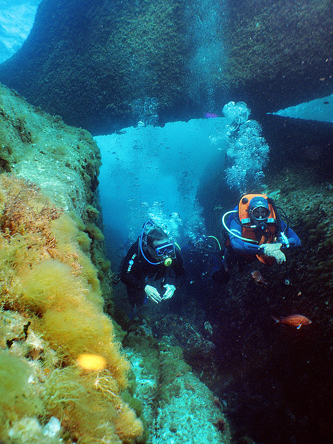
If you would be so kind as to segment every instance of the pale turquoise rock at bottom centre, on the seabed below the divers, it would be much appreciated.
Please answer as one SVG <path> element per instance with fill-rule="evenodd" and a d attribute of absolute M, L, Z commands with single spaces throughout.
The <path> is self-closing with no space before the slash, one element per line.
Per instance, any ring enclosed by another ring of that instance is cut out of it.
<path fill-rule="evenodd" d="M 157 340 L 147 322 L 132 324 L 124 345 L 149 425 L 149 443 L 230 444 L 223 406 L 185 363 L 172 328 Z"/>

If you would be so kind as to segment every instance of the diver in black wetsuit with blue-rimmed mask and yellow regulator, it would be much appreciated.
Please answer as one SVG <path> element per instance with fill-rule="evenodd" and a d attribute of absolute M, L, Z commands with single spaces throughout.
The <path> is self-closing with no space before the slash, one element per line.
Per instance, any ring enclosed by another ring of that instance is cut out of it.
<path fill-rule="evenodd" d="M 179 250 L 177 243 L 170 240 L 154 222 L 144 224 L 141 235 L 123 261 L 120 273 L 132 306 L 143 305 L 148 298 L 155 303 L 169 299 L 183 285 L 185 270 Z M 155 284 L 157 280 L 161 280 L 159 289 Z"/>

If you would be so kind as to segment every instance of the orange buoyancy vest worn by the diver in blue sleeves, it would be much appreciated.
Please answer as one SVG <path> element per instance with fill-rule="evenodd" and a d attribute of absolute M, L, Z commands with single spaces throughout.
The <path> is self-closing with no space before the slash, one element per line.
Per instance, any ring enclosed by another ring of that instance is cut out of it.
<path fill-rule="evenodd" d="M 267 199 L 266 194 L 245 194 L 238 205 L 238 216 L 239 220 L 242 224 L 242 237 L 246 239 L 256 240 L 256 232 L 254 228 L 251 228 L 250 214 L 249 214 L 249 204 L 253 197 L 263 197 Z M 247 199 L 247 200 L 246 200 Z M 269 216 L 265 224 L 267 225 L 267 229 L 263 232 L 261 239 L 259 240 L 259 245 L 261 244 L 270 244 L 275 242 L 275 231 L 276 231 L 276 216 L 271 203 L 267 202 L 269 208 Z M 244 226 L 244 224 L 246 226 Z M 257 239 L 258 240 L 258 239 Z M 275 259 L 269 258 L 265 255 L 256 255 L 260 262 L 265 263 L 266 265 L 272 265 L 275 262 Z"/>

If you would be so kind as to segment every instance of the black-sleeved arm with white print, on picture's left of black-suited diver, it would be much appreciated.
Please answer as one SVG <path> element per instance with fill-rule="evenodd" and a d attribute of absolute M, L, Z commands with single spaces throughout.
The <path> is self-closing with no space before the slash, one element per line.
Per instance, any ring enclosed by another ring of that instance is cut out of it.
<path fill-rule="evenodd" d="M 124 259 L 120 273 L 120 280 L 130 287 L 144 289 L 146 274 L 142 268 L 141 262 L 139 261 L 138 252 L 139 246 L 138 242 L 136 242 L 128 250 L 128 253 Z"/>

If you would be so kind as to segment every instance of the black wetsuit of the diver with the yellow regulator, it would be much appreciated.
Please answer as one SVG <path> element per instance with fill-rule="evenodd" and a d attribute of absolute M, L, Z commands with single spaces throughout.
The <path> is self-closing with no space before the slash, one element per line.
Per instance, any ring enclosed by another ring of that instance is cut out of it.
<path fill-rule="evenodd" d="M 145 252 L 145 256 L 154 262 L 148 252 Z M 120 280 L 126 285 L 131 305 L 144 303 L 148 278 L 153 278 L 154 281 L 161 279 L 162 293 L 164 293 L 163 285 L 165 284 L 174 285 L 176 289 L 181 287 L 185 282 L 185 270 L 180 253 L 176 251 L 176 258 L 172 259 L 172 263 L 168 267 L 163 262 L 153 265 L 142 256 L 138 239 L 128 250 L 120 274 Z"/>

